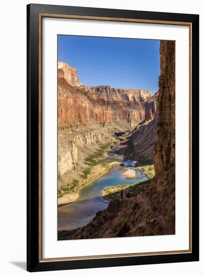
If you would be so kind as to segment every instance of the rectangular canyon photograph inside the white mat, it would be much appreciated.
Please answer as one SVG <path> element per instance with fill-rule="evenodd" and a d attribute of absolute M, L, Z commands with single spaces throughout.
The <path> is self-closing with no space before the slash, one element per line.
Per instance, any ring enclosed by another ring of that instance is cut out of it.
<path fill-rule="evenodd" d="M 57 239 L 175 234 L 175 41 L 57 35 Z"/>

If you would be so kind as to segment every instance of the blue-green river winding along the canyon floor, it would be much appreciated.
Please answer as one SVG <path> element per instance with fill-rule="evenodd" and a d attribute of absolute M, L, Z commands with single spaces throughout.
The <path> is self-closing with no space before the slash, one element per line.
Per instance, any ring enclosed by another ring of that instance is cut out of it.
<path fill-rule="evenodd" d="M 105 187 L 138 183 L 147 180 L 143 171 L 135 168 L 135 160 L 124 160 L 121 155 L 108 152 L 107 158 L 100 162 L 119 161 L 123 166 L 115 165 L 100 178 L 85 186 L 79 191 L 76 201 L 58 207 L 58 230 L 71 230 L 82 227 L 90 222 L 96 212 L 105 209 L 108 201 L 104 200 L 101 192 Z M 134 178 L 125 178 L 123 173 L 128 168 L 135 170 Z"/>

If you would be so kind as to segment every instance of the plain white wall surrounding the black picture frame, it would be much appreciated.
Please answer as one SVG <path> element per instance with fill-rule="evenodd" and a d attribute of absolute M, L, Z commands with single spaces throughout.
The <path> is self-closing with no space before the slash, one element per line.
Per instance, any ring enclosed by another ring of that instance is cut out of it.
<path fill-rule="evenodd" d="M 26 5 L 30 1 L 3 2 L 1 4 L 1 43 L 0 43 L 0 183 L 1 183 L 1 268 L 3 275 L 25 275 L 26 259 Z M 200 15 L 200 49 L 204 48 L 204 11 L 199 0 L 178 2 L 171 0 L 131 0 L 110 2 L 108 0 L 69 0 L 67 1 L 31 1 L 37 4 L 86 6 L 109 9 L 126 9 L 171 13 L 191 13 Z M 200 51 L 200 76 L 204 75 L 204 54 Z M 200 78 L 201 79 L 201 78 Z M 204 90 L 203 80 L 200 91 Z M 200 103 L 204 95 L 200 93 Z M 204 108 L 200 106 L 200 141 L 204 140 Z M 202 128 L 201 128 L 202 126 Z M 204 146 L 200 144 L 200 156 L 204 155 Z M 204 167 L 200 158 L 200 168 Z M 201 170 L 200 170 L 201 171 Z M 200 175 L 200 183 L 204 178 Z M 204 194 L 200 185 L 200 195 Z M 200 200 L 200 233 L 204 232 L 204 203 Z M 200 261 L 189 263 L 154 264 L 71 271 L 38 272 L 37 275 L 143 275 L 172 276 L 184 273 L 200 276 L 204 269 L 204 239 L 200 235 Z"/>

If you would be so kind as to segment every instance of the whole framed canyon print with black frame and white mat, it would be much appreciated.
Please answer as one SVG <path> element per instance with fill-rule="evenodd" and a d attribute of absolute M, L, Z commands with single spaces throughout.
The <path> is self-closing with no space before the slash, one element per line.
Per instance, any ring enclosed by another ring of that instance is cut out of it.
<path fill-rule="evenodd" d="M 27 270 L 198 260 L 198 15 L 27 6 Z"/>

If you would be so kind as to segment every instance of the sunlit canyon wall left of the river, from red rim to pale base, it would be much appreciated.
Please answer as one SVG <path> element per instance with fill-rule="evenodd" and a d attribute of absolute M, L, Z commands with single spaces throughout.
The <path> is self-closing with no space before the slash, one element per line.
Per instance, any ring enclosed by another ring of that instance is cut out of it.
<path fill-rule="evenodd" d="M 84 86 L 75 68 L 58 62 L 58 188 L 73 180 L 79 187 L 84 159 L 113 143 L 114 132 L 141 122 L 150 96 L 150 90 Z"/>

